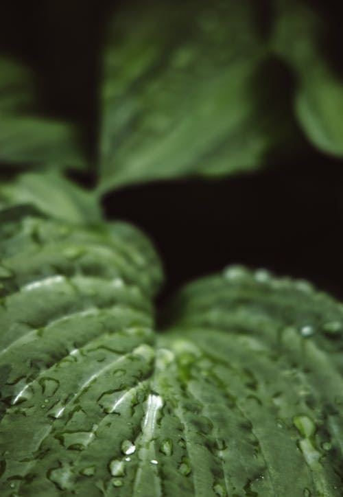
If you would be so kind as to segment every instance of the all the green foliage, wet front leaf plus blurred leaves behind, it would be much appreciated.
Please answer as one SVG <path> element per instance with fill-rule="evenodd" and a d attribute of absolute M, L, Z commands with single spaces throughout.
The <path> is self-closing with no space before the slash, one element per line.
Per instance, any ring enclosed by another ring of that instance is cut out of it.
<path fill-rule="evenodd" d="M 32 67 L 0 58 L 1 495 L 342 495 L 342 304 L 228 266 L 158 310 L 152 242 L 100 206 L 289 143 L 342 157 L 320 11 L 268 5 L 269 29 L 248 0 L 118 5 L 95 157 Z"/>

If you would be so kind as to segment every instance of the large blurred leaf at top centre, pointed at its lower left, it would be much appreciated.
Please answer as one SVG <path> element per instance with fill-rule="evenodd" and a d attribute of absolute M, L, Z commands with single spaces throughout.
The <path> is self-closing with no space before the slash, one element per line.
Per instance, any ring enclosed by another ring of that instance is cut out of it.
<path fill-rule="evenodd" d="M 283 127 L 260 95 L 268 75 L 257 87 L 267 55 L 248 2 L 120 8 L 104 56 L 100 191 L 259 167 Z"/>

